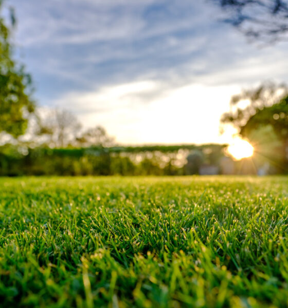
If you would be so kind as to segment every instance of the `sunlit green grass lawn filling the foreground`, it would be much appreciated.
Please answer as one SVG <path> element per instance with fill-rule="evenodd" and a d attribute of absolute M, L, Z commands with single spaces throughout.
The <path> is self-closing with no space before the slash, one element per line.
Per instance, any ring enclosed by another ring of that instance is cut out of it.
<path fill-rule="evenodd" d="M 0 306 L 286 307 L 288 178 L 0 179 Z"/>

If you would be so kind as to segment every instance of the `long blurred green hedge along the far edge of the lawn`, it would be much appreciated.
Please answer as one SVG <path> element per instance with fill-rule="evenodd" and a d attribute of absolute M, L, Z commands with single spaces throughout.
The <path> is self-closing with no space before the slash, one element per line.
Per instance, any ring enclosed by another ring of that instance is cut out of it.
<path fill-rule="evenodd" d="M 196 174 L 200 164 L 217 164 L 224 155 L 224 147 L 217 144 L 88 148 L 6 145 L 0 147 L 0 176 Z M 192 172 L 187 165 L 189 153 L 196 158 Z"/>

